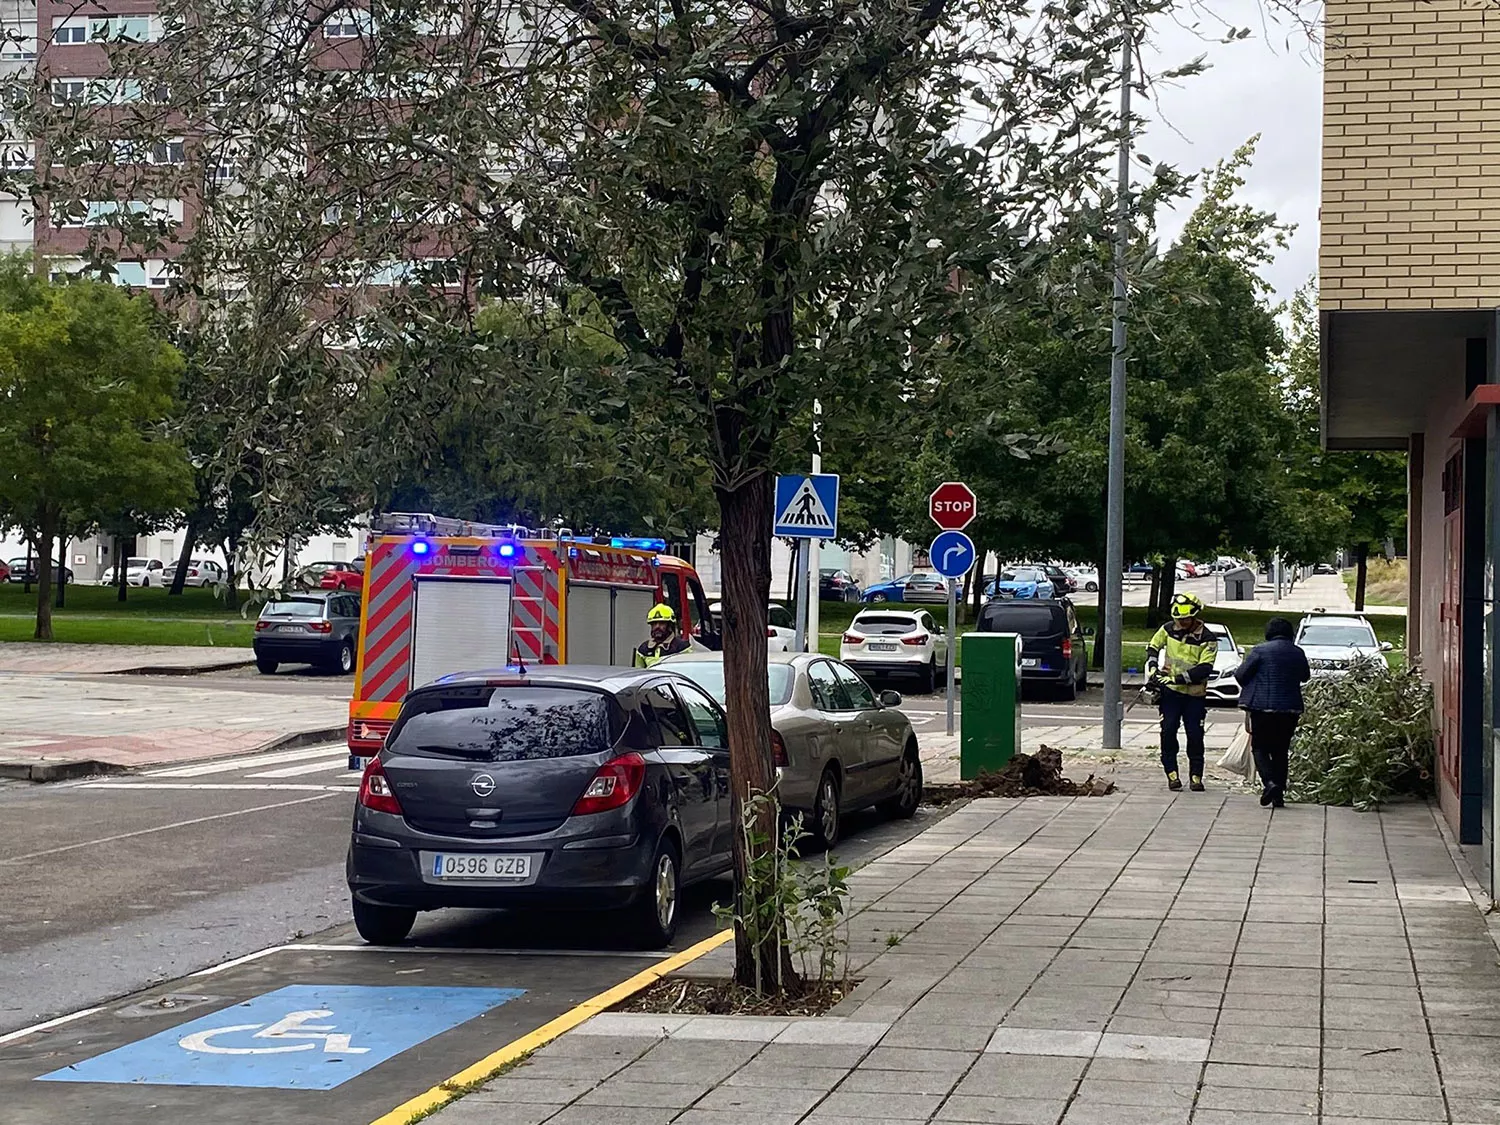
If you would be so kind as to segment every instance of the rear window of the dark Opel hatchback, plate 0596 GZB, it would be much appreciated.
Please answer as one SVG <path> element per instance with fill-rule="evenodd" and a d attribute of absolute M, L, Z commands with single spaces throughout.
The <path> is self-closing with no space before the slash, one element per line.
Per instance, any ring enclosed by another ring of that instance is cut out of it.
<path fill-rule="evenodd" d="M 406 714 L 412 710 L 414 714 Z M 416 696 L 392 732 L 396 753 L 530 762 L 610 750 L 624 734 L 624 711 L 600 692 L 501 687 L 480 693 Z"/>

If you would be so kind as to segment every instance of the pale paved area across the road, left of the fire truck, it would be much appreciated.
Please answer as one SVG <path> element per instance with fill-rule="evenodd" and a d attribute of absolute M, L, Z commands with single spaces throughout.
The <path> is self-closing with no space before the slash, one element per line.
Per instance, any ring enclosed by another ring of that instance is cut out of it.
<path fill-rule="evenodd" d="M 348 702 L 338 698 L 225 692 L 190 680 L 0 674 L 0 771 L 51 780 L 66 774 L 60 764 L 132 768 L 222 758 L 314 730 L 338 736 L 346 722 Z"/>

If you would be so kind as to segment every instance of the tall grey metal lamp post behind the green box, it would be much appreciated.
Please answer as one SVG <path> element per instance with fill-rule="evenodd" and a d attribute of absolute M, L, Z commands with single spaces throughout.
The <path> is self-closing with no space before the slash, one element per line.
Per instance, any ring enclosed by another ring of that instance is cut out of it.
<path fill-rule="evenodd" d="M 1124 678 L 1120 636 L 1124 633 L 1125 582 L 1125 314 L 1130 290 L 1125 285 L 1125 254 L 1130 248 L 1130 86 L 1134 34 L 1130 3 L 1124 9 L 1120 44 L 1120 141 L 1119 174 L 1114 189 L 1114 300 L 1110 326 L 1110 456 L 1108 494 L 1104 525 L 1104 748 L 1120 748 Z"/>

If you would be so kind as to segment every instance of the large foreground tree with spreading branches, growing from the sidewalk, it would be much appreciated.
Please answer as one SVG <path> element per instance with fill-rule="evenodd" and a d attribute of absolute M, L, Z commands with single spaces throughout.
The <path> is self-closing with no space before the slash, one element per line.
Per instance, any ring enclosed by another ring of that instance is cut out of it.
<path fill-rule="evenodd" d="M 144 141 L 210 123 L 182 176 L 238 180 L 207 190 L 178 260 L 201 324 L 232 302 L 254 326 L 234 366 L 214 369 L 279 372 L 321 338 L 345 378 L 291 400 L 320 420 L 340 404 L 405 404 L 345 442 L 372 460 L 387 448 L 410 466 L 502 386 L 526 408 L 522 434 L 561 400 L 588 418 L 568 438 L 586 446 L 614 411 L 610 432 L 632 436 L 620 478 L 702 466 L 723 552 L 735 807 L 772 837 L 774 802 L 752 801 L 772 777 L 772 476 L 806 464 L 798 422 L 814 399 L 854 418 L 940 380 L 1005 282 L 1038 268 L 1059 216 L 1100 198 L 1114 10 L 387 0 L 346 46 L 314 10 L 160 10 L 165 39 L 116 58 L 160 80 L 162 100 L 111 112 L 108 130 Z M 100 128 L 32 105 L 62 153 L 39 178 L 98 198 L 76 171 L 98 160 Z M 490 300 L 543 322 L 602 320 L 614 393 L 552 364 L 496 368 L 476 324 Z M 256 496 L 279 542 L 267 513 L 282 492 Z M 736 852 L 740 909 L 759 909 L 752 856 Z M 795 980 L 778 930 L 753 946 L 741 927 L 736 948 L 741 981 Z"/>

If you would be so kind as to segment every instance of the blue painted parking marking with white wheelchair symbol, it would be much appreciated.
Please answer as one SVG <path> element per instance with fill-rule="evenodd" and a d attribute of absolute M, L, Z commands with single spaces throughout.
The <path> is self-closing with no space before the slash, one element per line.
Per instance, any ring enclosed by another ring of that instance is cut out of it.
<path fill-rule="evenodd" d="M 525 988 L 288 984 L 38 1082 L 332 1090 Z"/>

